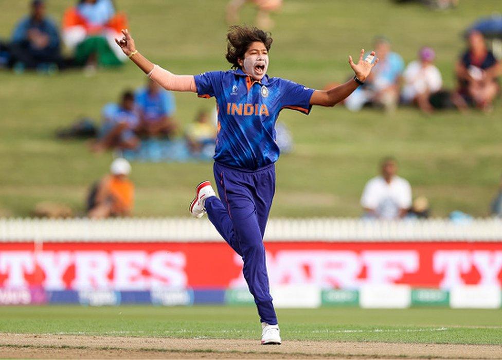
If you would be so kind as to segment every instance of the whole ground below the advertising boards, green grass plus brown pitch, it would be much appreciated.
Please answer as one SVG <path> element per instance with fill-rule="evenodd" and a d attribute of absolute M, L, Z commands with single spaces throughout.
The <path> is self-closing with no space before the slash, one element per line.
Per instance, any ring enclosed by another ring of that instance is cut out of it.
<path fill-rule="evenodd" d="M 500 310 L 281 309 L 278 316 L 283 344 L 260 347 L 254 307 L 1 307 L 0 357 L 499 358 L 502 354 Z"/>

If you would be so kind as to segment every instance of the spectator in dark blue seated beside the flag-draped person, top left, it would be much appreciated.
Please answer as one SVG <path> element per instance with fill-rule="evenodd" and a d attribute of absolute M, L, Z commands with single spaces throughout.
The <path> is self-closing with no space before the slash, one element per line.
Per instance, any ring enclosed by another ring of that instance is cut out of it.
<path fill-rule="evenodd" d="M 62 64 L 59 30 L 45 15 L 43 0 L 33 0 L 30 14 L 15 27 L 10 52 L 17 69 L 40 69 Z"/>

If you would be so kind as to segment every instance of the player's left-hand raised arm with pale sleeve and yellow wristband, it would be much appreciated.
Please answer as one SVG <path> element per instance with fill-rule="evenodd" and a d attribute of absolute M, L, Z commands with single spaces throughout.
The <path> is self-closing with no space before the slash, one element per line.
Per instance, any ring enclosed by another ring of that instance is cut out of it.
<path fill-rule="evenodd" d="M 141 55 L 136 50 L 134 39 L 128 29 L 122 30 L 122 39 L 115 39 L 115 42 L 141 70 L 160 86 L 172 91 L 197 92 L 195 80 L 192 75 L 174 75 L 170 71 L 154 65 L 150 60 Z"/>

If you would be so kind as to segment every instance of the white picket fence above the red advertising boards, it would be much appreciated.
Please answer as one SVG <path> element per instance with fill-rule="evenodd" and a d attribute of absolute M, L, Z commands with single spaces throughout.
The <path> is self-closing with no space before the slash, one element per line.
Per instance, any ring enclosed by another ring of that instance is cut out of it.
<path fill-rule="evenodd" d="M 207 220 L 0 219 L 0 242 L 213 242 L 221 236 Z M 502 241 L 502 220 L 369 221 L 271 219 L 265 241 Z"/>

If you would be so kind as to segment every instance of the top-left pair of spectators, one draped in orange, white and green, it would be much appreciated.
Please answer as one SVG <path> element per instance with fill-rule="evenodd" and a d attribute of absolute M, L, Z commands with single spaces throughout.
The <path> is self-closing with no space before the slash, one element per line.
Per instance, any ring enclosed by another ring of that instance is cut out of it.
<path fill-rule="evenodd" d="M 10 41 L 1 42 L 0 65 L 16 73 L 25 69 L 53 73 L 70 67 L 92 72 L 98 66 L 118 66 L 127 57 L 114 39 L 126 27 L 126 14 L 118 12 L 112 0 L 78 0 L 66 9 L 61 27 L 47 15 L 44 0 L 32 0 Z"/>

